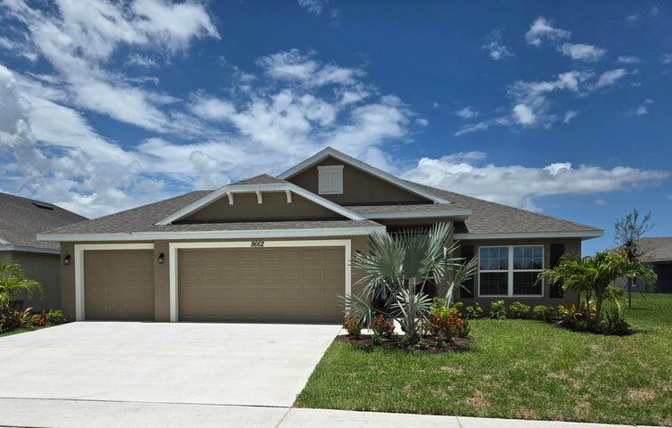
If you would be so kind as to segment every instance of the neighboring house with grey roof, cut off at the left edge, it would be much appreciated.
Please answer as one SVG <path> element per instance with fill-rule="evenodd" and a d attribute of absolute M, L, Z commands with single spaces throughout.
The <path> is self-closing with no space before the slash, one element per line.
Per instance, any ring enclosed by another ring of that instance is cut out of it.
<path fill-rule="evenodd" d="M 59 244 L 37 241 L 36 235 L 86 219 L 51 203 L 0 193 L 0 259 L 19 263 L 45 292 L 43 299 L 22 301 L 24 308 L 61 307 Z"/>

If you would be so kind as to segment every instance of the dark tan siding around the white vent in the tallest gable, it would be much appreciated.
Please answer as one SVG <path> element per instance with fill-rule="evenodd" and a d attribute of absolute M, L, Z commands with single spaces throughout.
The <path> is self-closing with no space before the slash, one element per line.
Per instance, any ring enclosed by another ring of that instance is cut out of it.
<path fill-rule="evenodd" d="M 327 165 L 343 165 L 343 162 L 332 157 L 326 158 L 324 161 L 291 177 L 289 181 L 309 192 L 318 194 L 317 167 Z M 373 177 L 365 171 L 347 164 L 343 167 L 343 194 L 322 194 L 321 196 L 340 205 L 428 202 L 422 196 L 408 192 L 397 185 L 392 185 L 385 180 L 381 180 L 381 178 Z"/>

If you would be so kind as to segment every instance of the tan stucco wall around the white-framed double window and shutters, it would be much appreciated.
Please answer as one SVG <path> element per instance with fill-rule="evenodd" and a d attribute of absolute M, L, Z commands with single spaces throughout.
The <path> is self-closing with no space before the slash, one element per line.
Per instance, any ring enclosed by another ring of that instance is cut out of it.
<path fill-rule="evenodd" d="M 471 241 L 464 240 L 462 241 L 464 245 L 473 245 L 474 246 L 474 255 L 479 255 L 479 247 L 482 246 L 509 246 L 509 245 L 543 245 L 544 246 L 544 268 L 549 268 L 551 263 L 551 244 L 552 243 L 563 243 L 565 245 L 565 253 L 575 253 L 581 254 L 581 240 L 580 239 L 531 239 L 531 240 L 483 240 L 483 241 Z M 474 276 L 474 293 L 478 296 L 479 292 L 479 274 L 477 273 Z M 574 292 L 565 293 L 564 297 L 559 299 L 550 298 L 550 284 L 545 282 L 543 284 L 543 296 L 542 297 L 487 297 L 487 296 L 478 296 L 476 300 L 479 301 L 479 304 L 483 306 L 484 309 L 490 307 L 490 302 L 493 300 L 504 300 L 507 304 L 519 300 L 530 306 L 545 304 L 545 305 L 559 305 L 565 301 L 575 301 L 577 299 L 577 294 Z M 473 302 L 474 299 L 463 299 L 464 304 L 468 305 Z"/>

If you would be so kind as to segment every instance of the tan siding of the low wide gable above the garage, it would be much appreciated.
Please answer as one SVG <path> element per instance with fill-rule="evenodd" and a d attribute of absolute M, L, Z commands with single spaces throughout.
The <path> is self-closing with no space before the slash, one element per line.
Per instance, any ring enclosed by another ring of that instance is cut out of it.
<path fill-rule="evenodd" d="M 286 193 L 269 192 L 262 193 L 261 203 L 258 203 L 255 193 L 235 193 L 233 205 L 229 204 L 227 197 L 224 197 L 194 212 L 191 216 L 184 218 L 184 220 L 208 221 L 268 218 L 342 218 L 342 216 L 295 193 L 291 194 L 291 202 L 287 202 Z"/>

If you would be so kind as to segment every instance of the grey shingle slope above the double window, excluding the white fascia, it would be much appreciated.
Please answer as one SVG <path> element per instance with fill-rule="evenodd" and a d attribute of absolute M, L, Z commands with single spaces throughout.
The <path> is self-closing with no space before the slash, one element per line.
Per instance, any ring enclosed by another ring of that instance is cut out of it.
<path fill-rule="evenodd" d="M 429 185 L 419 185 L 428 192 L 450 202 L 471 208 L 471 216 L 464 222 L 455 224 L 456 233 L 493 234 L 493 233 L 531 233 L 531 232 L 567 232 L 591 231 L 602 229 L 586 226 L 573 221 L 563 220 L 532 212 L 520 210 L 501 203 L 489 202 L 460 193 L 448 192 Z"/>

